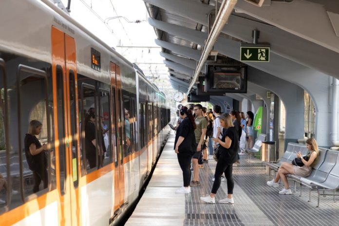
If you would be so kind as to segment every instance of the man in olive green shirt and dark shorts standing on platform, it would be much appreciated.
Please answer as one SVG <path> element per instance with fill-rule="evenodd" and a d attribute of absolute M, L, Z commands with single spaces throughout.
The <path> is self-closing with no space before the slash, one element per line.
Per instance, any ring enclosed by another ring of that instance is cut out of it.
<path fill-rule="evenodd" d="M 207 131 L 207 120 L 203 116 L 203 106 L 201 104 L 194 105 L 193 109 L 195 113 L 195 124 L 197 125 L 197 129 L 194 130 L 195 142 L 198 144 L 197 152 L 194 153 L 192 158 L 193 164 L 193 179 L 190 183 L 190 186 L 200 185 L 199 181 L 199 164 L 198 159 L 201 154 L 201 145 L 204 142 L 205 134 Z"/>

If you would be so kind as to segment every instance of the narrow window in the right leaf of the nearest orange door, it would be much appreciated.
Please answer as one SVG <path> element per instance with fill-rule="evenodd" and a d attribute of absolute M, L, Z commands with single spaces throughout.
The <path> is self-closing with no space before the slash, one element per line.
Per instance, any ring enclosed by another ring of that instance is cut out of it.
<path fill-rule="evenodd" d="M 76 121 L 76 92 L 75 92 L 75 75 L 73 71 L 69 73 L 69 92 L 70 92 L 70 121 L 71 121 L 71 135 L 72 135 L 72 175 L 73 185 L 78 186 L 79 171 L 78 163 L 78 139 L 77 139 L 77 121 Z"/>

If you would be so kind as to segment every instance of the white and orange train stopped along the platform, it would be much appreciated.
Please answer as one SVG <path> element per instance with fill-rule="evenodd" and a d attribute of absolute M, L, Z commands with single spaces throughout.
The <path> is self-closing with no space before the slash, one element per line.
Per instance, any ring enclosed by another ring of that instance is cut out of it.
<path fill-rule="evenodd" d="M 168 139 L 165 94 L 50 0 L 2 0 L 0 12 L 0 225 L 118 225 Z M 48 186 L 38 192 L 25 157 L 31 120 L 47 144 Z"/>

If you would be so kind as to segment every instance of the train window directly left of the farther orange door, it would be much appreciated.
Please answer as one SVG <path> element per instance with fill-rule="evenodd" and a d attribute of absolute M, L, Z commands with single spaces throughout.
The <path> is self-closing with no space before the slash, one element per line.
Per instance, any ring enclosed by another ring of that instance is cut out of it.
<path fill-rule="evenodd" d="M 100 132 L 99 137 L 101 138 L 101 149 L 104 152 L 101 158 L 102 165 L 106 166 L 112 162 L 112 148 L 111 145 L 111 109 L 110 109 L 110 92 L 99 89 L 100 99 Z"/>

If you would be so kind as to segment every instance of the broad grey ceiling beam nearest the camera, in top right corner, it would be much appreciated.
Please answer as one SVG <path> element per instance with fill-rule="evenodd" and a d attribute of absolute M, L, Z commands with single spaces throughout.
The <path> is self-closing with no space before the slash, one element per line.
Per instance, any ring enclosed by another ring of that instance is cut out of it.
<path fill-rule="evenodd" d="M 336 4 L 338 6 L 338 3 Z M 289 3 L 272 2 L 267 7 L 256 7 L 245 1 L 239 1 L 235 9 L 236 12 L 245 13 L 339 53 L 339 38 L 321 3 L 294 0 Z"/>

